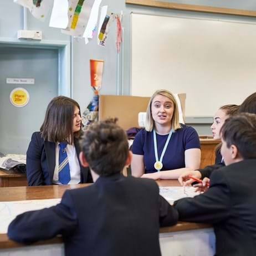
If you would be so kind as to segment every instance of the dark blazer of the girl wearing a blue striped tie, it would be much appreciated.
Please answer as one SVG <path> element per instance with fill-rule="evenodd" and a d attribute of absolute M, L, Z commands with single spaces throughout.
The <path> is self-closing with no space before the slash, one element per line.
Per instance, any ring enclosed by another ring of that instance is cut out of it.
<path fill-rule="evenodd" d="M 74 140 L 76 155 L 79 156 L 78 139 Z M 55 168 L 55 143 L 44 141 L 40 132 L 34 132 L 27 150 L 28 186 L 53 185 Z M 81 166 L 81 183 L 93 182 L 89 168 Z"/>

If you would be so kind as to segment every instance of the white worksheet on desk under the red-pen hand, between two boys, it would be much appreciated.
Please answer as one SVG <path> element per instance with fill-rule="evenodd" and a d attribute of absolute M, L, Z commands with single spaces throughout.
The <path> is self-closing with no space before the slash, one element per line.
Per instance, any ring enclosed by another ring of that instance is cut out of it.
<path fill-rule="evenodd" d="M 194 187 L 159 187 L 160 194 L 164 197 L 170 204 L 174 201 L 184 198 L 184 197 L 194 197 L 200 192 L 195 192 Z"/>

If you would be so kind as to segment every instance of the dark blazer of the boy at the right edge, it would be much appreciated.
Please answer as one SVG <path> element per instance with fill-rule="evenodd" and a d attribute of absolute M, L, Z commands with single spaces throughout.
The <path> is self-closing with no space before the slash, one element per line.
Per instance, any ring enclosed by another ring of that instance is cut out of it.
<path fill-rule="evenodd" d="M 219 168 L 207 192 L 175 202 L 181 221 L 212 223 L 216 255 L 256 255 L 256 159 Z"/>

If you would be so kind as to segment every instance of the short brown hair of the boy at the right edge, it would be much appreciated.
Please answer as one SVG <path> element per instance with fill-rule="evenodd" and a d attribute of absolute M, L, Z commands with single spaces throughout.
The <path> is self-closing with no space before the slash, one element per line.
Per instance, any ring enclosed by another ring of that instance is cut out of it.
<path fill-rule="evenodd" d="M 221 128 L 227 147 L 235 145 L 243 159 L 256 158 L 256 115 L 241 113 L 229 117 Z"/>

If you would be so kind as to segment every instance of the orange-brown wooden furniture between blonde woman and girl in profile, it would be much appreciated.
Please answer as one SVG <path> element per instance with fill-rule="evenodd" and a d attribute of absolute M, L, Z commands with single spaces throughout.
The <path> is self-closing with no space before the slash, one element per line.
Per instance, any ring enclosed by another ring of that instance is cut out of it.
<path fill-rule="evenodd" d="M 201 144 L 201 163 L 200 168 L 207 165 L 214 165 L 215 163 L 215 148 L 221 142 L 219 140 L 207 139 L 200 137 Z M 206 136 L 203 136 L 206 137 Z"/>

